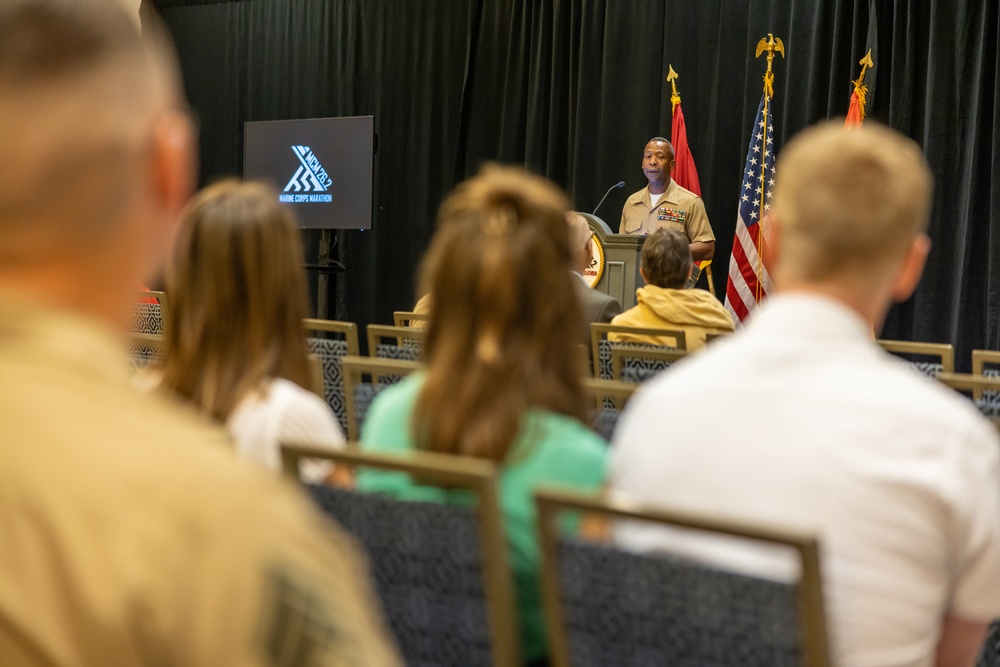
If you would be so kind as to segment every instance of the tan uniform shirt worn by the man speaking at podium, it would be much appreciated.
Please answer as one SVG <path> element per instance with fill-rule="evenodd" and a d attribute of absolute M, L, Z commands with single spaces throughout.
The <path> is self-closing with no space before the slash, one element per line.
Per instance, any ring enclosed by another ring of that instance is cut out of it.
<path fill-rule="evenodd" d="M 625 200 L 619 234 L 652 234 L 660 227 L 683 232 L 691 243 L 714 241 L 715 234 L 701 197 L 670 179 L 667 191 L 656 206 L 649 198 L 649 186 Z"/>

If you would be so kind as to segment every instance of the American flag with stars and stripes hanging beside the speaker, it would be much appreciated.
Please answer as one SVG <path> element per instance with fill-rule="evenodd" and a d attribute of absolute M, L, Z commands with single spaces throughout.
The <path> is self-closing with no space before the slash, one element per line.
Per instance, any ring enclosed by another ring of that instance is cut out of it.
<path fill-rule="evenodd" d="M 740 212 L 736 218 L 733 255 L 729 259 L 729 280 L 726 283 L 726 310 L 737 322 L 746 319 L 754 308 L 771 293 L 771 276 L 760 258 L 761 208 L 771 208 L 774 187 L 774 125 L 770 109 L 765 113 L 764 97 L 757 108 L 747 163 L 743 169 L 740 189 Z"/>

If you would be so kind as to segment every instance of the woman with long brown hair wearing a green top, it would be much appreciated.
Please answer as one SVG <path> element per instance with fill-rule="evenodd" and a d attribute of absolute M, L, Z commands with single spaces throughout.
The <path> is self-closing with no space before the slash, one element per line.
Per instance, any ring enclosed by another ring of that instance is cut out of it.
<path fill-rule="evenodd" d="M 421 292 L 434 299 L 427 370 L 379 394 L 361 434 L 366 449 L 498 464 L 529 662 L 546 653 L 532 489 L 596 488 L 606 458 L 606 443 L 581 421 L 568 208 L 555 186 L 519 169 L 486 167 L 455 189 L 422 270 Z M 427 497 L 399 475 L 364 472 L 359 486 Z"/>

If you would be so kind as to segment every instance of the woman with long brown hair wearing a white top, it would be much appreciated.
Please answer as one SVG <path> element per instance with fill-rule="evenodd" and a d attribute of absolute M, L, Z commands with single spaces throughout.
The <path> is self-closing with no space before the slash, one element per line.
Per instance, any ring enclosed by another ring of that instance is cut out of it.
<path fill-rule="evenodd" d="M 226 180 L 188 205 L 167 266 L 160 385 L 224 422 L 237 452 L 272 470 L 282 440 L 344 441 L 329 406 L 306 389 L 304 261 L 277 193 Z"/>

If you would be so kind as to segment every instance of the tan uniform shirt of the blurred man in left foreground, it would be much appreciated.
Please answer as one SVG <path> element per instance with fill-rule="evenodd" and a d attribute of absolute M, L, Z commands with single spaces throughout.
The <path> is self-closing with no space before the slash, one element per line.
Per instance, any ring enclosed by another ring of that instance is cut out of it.
<path fill-rule="evenodd" d="M 350 540 L 123 352 L 0 299 L 0 664 L 399 664 Z"/>

